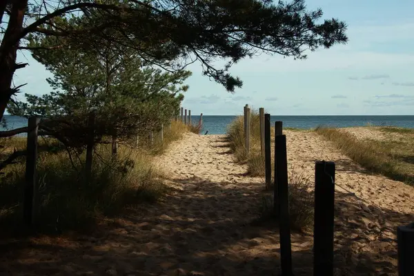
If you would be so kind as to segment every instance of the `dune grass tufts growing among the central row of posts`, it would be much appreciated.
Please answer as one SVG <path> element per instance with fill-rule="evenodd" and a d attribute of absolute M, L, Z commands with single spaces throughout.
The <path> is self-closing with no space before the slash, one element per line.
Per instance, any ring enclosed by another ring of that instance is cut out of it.
<path fill-rule="evenodd" d="M 253 111 L 251 114 L 250 126 L 250 152 L 246 154 L 244 136 L 244 117 L 237 117 L 228 126 L 228 141 L 230 150 L 235 155 L 237 161 L 246 163 L 248 175 L 253 177 L 264 177 L 265 164 L 260 147 L 260 119 L 259 112 Z M 274 128 L 271 128 L 272 151 L 274 152 Z M 272 170 L 273 156 L 272 153 Z M 273 179 L 273 177 L 272 177 Z M 268 187 L 270 191 L 272 186 Z M 289 173 L 289 212 L 290 224 L 295 230 L 304 230 L 313 224 L 313 193 L 311 193 L 311 182 L 303 175 L 297 175 L 294 170 Z M 267 221 L 275 221 L 276 214 L 273 212 L 273 192 L 262 197 L 262 204 L 259 209 L 260 217 L 255 223 L 262 224 Z"/>

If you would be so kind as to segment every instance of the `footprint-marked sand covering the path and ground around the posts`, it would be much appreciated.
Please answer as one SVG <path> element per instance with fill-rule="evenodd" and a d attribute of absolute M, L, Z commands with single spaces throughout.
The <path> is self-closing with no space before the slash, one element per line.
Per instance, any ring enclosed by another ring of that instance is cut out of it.
<path fill-rule="evenodd" d="M 286 131 L 288 164 L 313 177 L 335 161 L 335 275 L 397 275 L 395 228 L 413 221 L 413 188 L 371 175 L 314 132 Z M 99 233 L 1 248 L 1 275 L 277 275 L 279 231 L 252 226 L 263 179 L 247 177 L 222 135 L 187 134 L 156 160 L 175 190 Z M 293 233 L 295 275 L 313 275 L 313 238 Z"/>

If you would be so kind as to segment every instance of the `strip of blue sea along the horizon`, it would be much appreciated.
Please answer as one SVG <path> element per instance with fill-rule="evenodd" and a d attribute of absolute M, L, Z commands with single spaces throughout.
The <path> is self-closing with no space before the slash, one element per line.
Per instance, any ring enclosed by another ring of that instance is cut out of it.
<path fill-rule="evenodd" d="M 228 125 L 237 116 L 208 116 L 203 115 L 202 134 L 217 135 L 226 134 Z M 21 128 L 28 125 L 28 120 L 23 117 L 5 115 L 6 128 L 0 127 L 0 130 L 10 130 Z M 271 116 L 270 120 L 282 121 L 284 128 L 303 128 L 311 129 L 317 126 L 331 126 L 337 128 L 346 128 L 351 126 L 398 126 L 402 128 L 414 128 L 414 115 L 401 116 Z M 191 121 L 197 123 L 199 116 L 192 116 Z"/>

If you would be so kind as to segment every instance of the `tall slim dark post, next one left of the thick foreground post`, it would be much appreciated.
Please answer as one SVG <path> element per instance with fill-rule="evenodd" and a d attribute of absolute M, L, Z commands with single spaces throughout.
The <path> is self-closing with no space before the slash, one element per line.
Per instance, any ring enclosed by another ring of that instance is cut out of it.
<path fill-rule="evenodd" d="M 289 219 L 289 190 L 288 190 L 288 161 L 286 155 L 286 135 L 275 136 L 275 210 L 278 211 L 280 233 L 280 264 L 282 275 L 293 275 L 292 248 L 290 248 L 290 219 Z M 277 189 L 276 189 L 277 188 Z M 276 198 L 277 196 L 277 198 Z M 279 206 L 277 206 L 277 204 Z M 277 214 L 277 213 L 276 213 Z M 323 275 L 323 274 L 316 274 Z"/>

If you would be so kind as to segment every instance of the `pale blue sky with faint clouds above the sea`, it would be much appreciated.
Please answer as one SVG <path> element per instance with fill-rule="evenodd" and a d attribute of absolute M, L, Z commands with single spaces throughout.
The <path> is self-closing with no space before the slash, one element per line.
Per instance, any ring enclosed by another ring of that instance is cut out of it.
<path fill-rule="evenodd" d="M 414 115 L 414 2 L 400 0 L 313 0 L 324 18 L 348 24 L 349 42 L 308 52 L 295 61 L 262 55 L 240 61 L 230 69 L 244 81 L 235 94 L 201 75 L 199 63 L 187 83 L 183 106 L 193 115 L 239 115 L 248 103 L 272 115 Z M 30 54 L 19 61 L 14 83 L 28 83 L 24 92 L 49 92 L 50 73 Z"/>

